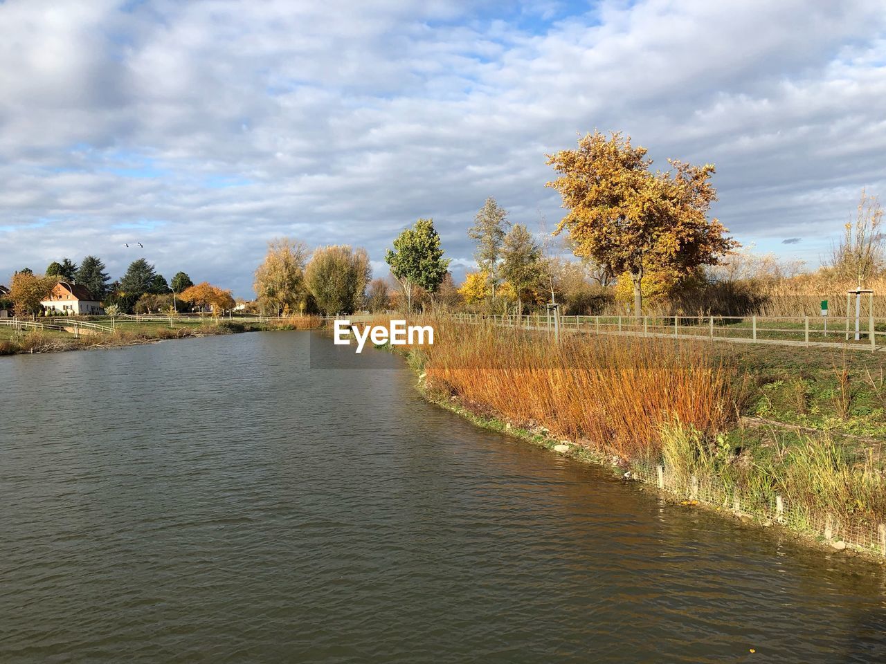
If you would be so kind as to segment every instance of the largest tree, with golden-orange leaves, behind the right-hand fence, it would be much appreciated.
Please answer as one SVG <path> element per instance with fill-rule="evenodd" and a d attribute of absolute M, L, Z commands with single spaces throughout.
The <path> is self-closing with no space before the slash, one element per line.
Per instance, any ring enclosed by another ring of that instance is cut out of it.
<path fill-rule="evenodd" d="M 630 137 L 595 132 L 579 139 L 578 150 L 548 155 L 560 174 L 548 187 L 569 210 L 556 233 L 568 232 L 578 256 L 609 266 L 611 274 L 630 274 L 637 316 L 647 269 L 690 274 L 737 246 L 718 220 L 707 218 L 716 200 L 714 166 L 669 159 L 670 171 L 651 173 L 646 152 Z"/>

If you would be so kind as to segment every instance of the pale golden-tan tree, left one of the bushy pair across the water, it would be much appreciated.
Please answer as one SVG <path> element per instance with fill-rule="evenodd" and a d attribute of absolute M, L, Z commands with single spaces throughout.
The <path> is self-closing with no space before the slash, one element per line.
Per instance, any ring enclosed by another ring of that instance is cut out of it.
<path fill-rule="evenodd" d="M 276 237 L 268 242 L 268 253 L 255 271 L 253 289 L 264 310 L 276 315 L 301 310 L 307 295 L 305 243 L 290 237 Z"/>

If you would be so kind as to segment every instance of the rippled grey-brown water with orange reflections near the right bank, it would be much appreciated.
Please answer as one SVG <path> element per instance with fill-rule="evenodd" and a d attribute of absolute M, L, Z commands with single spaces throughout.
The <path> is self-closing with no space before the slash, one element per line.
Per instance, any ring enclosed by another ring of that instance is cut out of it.
<path fill-rule="evenodd" d="M 0 661 L 884 660 L 882 567 L 311 369 L 353 354 L 312 334 L 0 361 Z"/>

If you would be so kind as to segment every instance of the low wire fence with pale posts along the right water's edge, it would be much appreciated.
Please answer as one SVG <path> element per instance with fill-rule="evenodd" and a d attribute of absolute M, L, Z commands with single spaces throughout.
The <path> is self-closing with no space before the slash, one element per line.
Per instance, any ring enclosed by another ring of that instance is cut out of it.
<path fill-rule="evenodd" d="M 886 556 L 886 524 L 883 523 L 848 521 L 835 514 L 811 513 L 808 509 L 791 505 L 789 499 L 781 496 L 763 498 L 751 495 L 739 487 L 726 486 L 713 476 L 693 475 L 687 479 L 664 466 L 633 466 L 631 478 L 657 486 L 677 498 L 695 500 L 736 516 L 747 515 L 765 524 L 786 526 L 835 544 L 837 548 L 845 544 L 859 551 Z"/>

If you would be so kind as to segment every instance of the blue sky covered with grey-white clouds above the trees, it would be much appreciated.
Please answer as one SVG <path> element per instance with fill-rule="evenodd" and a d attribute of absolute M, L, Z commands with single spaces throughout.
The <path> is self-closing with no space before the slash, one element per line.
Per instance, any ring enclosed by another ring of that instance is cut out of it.
<path fill-rule="evenodd" d="M 419 217 L 457 281 L 486 197 L 556 226 L 545 155 L 595 129 L 715 164 L 732 235 L 816 266 L 886 194 L 882 10 L 0 0 L 0 282 L 144 256 L 252 297 L 271 238 L 364 246 L 385 276 Z"/>

